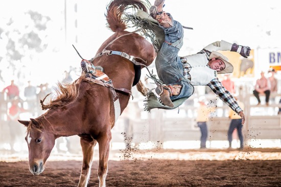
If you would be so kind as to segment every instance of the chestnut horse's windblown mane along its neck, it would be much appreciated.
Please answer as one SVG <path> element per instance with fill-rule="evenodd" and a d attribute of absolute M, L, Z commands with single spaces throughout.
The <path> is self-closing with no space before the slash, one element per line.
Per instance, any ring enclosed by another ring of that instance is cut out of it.
<path fill-rule="evenodd" d="M 43 100 L 40 100 L 42 110 L 54 109 L 65 106 L 69 103 L 74 102 L 79 95 L 80 83 L 85 78 L 84 73 L 72 84 L 69 83 L 58 83 L 58 88 L 55 89 L 57 97 L 51 99 L 49 103 L 44 104 L 44 100 L 50 94 L 46 95 Z"/>

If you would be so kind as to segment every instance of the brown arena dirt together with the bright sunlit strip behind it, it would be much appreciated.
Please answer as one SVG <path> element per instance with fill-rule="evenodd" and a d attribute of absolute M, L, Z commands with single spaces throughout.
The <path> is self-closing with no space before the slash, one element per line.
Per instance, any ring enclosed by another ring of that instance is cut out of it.
<path fill-rule="evenodd" d="M 281 186 L 281 149 L 112 150 L 106 186 Z M 99 186 L 98 153 L 88 186 Z M 77 186 L 81 154 L 53 154 L 33 176 L 27 154 L 1 155 L 0 186 Z"/>

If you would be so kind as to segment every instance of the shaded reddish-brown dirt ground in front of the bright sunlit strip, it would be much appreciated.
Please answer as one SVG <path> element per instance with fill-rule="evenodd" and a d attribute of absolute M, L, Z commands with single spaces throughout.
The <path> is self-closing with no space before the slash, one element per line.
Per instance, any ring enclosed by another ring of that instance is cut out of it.
<path fill-rule="evenodd" d="M 0 186 L 77 186 L 81 161 L 49 161 L 39 176 L 28 162 L 0 162 Z M 94 161 L 88 186 L 99 186 Z M 108 163 L 107 186 L 281 186 L 281 158 L 179 161 L 135 159 Z"/>

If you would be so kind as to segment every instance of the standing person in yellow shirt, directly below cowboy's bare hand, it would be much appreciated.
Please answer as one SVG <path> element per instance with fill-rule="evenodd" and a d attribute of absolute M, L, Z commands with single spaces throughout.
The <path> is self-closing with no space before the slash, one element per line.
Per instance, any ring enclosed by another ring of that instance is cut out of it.
<path fill-rule="evenodd" d="M 237 97 L 235 97 L 237 100 L 239 106 L 241 107 L 242 110 L 244 110 L 244 103 L 239 101 Z M 236 114 L 233 110 L 229 110 L 229 118 L 231 119 L 228 131 L 227 131 L 227 138 L 228 138 L 228 143 L 229 143 L 229 148 L 231 148 L 232 144 L 232 133 L 235 129 L 237 129 L 238 137 L 240 140 L 240 149 L 243 149 L 243 135 L 242 135 L 242 119 L 239 115 Z"/>

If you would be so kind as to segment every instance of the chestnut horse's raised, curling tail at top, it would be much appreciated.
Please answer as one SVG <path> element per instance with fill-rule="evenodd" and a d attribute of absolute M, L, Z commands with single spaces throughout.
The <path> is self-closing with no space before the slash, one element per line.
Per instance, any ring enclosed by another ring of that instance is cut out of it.
<path fill-rule="evenodd" d="M 147 12 L 150 3 L 142 2 L 140 0 L 112 0 L 107 6 L 107 27 L 114 33 L 117 31 L 124 31 L 127 29 L 126 21 L 122 19 L 122 14 L 127 9 L 143 10 Z"/>

